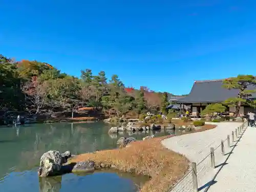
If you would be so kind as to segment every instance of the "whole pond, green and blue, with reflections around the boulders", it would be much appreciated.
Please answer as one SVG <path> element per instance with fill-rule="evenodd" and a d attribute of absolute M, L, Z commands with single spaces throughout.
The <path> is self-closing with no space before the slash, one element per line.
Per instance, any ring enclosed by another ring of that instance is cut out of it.
<path fill-rule="evenodd" d="M 108 134 L 104 122 L 30 124 L 0 127 L 0 188 L 5 192 L 133 192 L 147 178 L 118 172 L 94 172 L 89 175 L 67 174 L 38 178 L 41 155 L 49 150 L 71 151 L 72 154 L 94 152 L 117 147 L 120 137 L 164 136 L 174 131 Z"/>

